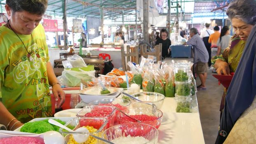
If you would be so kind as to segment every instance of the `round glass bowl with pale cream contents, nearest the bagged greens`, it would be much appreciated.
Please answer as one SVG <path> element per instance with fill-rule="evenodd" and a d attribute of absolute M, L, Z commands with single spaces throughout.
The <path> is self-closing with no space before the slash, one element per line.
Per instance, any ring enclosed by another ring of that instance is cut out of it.
<path fill-rule="evenodd" d="M 156 109 L 161 109 L 163 105 L 163 101 L 165 99 L 165 96 L 162 95 L 161 93 L 154 93 L 154 92 L 140 92 L 140 93 L 135 93 L 133 94 L 133 97 L 137 98 L 140 101 L 130 99 L 131 104 L 133 107 L 153 107 Z M 148 104 L 148 105 L 143 105 L 142 103 Z"/>

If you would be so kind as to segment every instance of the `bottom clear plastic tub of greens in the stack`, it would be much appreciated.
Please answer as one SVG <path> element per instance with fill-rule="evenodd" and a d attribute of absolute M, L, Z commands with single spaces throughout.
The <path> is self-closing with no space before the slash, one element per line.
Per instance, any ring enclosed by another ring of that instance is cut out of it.
<path fill-rule="evenodd" d="M 191 97 L 175 97 L 177 102 L 176 112 L 191 112 Z"/>

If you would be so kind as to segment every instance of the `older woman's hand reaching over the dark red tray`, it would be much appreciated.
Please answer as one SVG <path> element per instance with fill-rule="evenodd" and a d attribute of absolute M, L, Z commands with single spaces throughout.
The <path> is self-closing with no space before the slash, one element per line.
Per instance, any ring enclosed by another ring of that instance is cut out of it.
<path fill-rule="evenodd" d="M 222 60 L 216 60 L 214 64 L 214 68 L 216 69 L 217 74 L 221 75 L 222 73 L 225 75 L 230 75 L 230 69 L 227 62 Z"/>

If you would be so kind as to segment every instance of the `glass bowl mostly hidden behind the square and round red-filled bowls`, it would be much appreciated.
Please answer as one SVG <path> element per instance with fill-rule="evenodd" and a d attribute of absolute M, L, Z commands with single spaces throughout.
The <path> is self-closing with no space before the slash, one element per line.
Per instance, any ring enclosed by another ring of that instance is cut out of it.
<path fill-rule="evenodd" d="M 115 107 L 121 109 L 122 111 L 127 111 L 128 107 L 130 106 L 130 101 L 126 100 L 126 99 L 122 99 L 122 98 L 103 98 L 101 100 L 94 100 L 94 101 L 88 103 L 88 106 L 91 106 L 91 105 L 115 106 Z M 116 114 L 118 112 L 119 111 L 116 110 L 116 113 L 114 114 L 115 122 L 117 122 Z"/>

